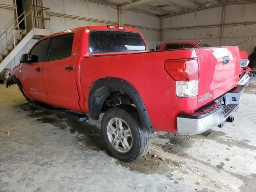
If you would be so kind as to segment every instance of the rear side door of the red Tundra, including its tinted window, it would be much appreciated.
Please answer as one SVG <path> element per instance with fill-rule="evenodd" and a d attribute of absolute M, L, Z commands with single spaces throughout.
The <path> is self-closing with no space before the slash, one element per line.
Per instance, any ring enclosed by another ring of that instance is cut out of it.
<path fill-rule="evenodd" d="M 80 111 L 76 86 L 80 30 L 52 36 L 48 60 L 43 67 L 46 98 L 53 106 Z"/>

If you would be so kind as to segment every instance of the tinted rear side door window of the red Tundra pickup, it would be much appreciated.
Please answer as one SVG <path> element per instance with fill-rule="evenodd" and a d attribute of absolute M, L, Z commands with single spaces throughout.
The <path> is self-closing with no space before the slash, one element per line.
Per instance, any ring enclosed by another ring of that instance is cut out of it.
<path fill-rule="evenodd" d="M 74 33 L 54 37 L 50 47 L 49 61 L 70 57 L 73 39 Z"/>

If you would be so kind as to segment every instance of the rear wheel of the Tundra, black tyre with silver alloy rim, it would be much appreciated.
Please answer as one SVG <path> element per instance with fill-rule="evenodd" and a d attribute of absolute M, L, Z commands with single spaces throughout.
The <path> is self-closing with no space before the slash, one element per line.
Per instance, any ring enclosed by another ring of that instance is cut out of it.
<path fill-rule="evenodd" d="M 142 126 L 133 106 L 107 110 L 101 121 L 101 132 L 107 150 L 119 160 L 132 161 L 149 150 L 150 131 Z"/>

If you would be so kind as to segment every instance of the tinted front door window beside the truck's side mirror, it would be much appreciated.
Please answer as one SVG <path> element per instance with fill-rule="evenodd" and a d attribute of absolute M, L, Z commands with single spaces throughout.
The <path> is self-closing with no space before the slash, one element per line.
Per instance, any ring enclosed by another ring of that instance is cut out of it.
<path fill-rule="evenodd" d="M 50 38 L 38 42 L 30 51 L 29 57 L 31 63 L 44 62 L 46 60 L 46 53 L 48 49 Z"/>

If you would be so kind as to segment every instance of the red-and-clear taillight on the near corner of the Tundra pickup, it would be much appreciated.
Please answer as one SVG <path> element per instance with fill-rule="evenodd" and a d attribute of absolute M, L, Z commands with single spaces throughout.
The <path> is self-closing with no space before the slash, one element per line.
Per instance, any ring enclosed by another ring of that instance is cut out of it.
<path fill-rule="evenodd" d="M 199 67 L 196 58 L 166 60 L 164 68 L 176 82 L 178 97 L 198 94 Z"/>

